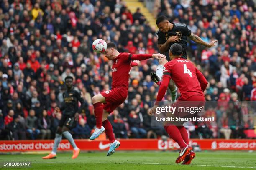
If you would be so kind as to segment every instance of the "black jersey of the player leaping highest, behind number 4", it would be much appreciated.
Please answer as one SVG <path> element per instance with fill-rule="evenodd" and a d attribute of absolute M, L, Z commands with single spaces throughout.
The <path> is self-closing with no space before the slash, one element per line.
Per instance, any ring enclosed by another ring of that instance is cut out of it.
<path fill-rule="evenodd" d="M 156 36 L 158 40 L 157 43 L 164 44 L 169 39 L 169 37 L 177 35 L 179 37 L 179 42 L 170 42 L 169 48 L 165 52 L 163 52 L 163 54 L 166 55 L 166 58 L 169 61 L 169 57 L 167 57 L 169 56 L 169 49 L 171 45 L 173 45 L 174 43 L 178 43 L 179 45 L 182 46 L 182 50 L 183 50 L 182 58 L 187 59 L 187 52 L 186 52 L 187 36 L 191 35 L 191 30 L 187 28 L 186 24 L 180 24 L 180 23 L 172 23 L 172 24 L 173 24 L 172 30 L 169 30 L 166 33 L 163 33 L 160 30 L 156 32 Z"/>

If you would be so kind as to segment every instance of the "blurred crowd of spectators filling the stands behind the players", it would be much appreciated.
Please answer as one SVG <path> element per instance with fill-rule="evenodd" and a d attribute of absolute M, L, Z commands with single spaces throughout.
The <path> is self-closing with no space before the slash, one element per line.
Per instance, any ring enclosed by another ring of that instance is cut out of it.
<path fill-rule="evenodd" d="M 72 135 L 90 137 L 95 127 L 92 97 L 111 88 L 112 62 L 92 51 L 95 39 L 114 42 L 119 52 L 158 52 L 157 28 L 139 8 L 131 13 L 122 0 L 0 2 L 1 140 L 53 139 L 61 119 L 54 108 L 63 102 L 67 75 L 75 78 L 87 103 Z M 247 138 L 245 130 L 254 126 L 253 109 L 241 101 L 256 101 L 253 0 L 162 0 L 155 7 L 158 16 L 187 24 L 204 41 L 218 40 L 216 47 L 206 48 L 188 39 L 188 58 L 209 82 L 205 98 L 218 102 L 206 111 L 217 120 L 205 126 L 188 124 L 190 137 Z M 148 115 L 159 89 L 150 77 L 157 65 L 151 59 L 131 68 L 128 98 L 109 117 L 116 138 L 167 135 L 163 127 L 151 126 Z"/>

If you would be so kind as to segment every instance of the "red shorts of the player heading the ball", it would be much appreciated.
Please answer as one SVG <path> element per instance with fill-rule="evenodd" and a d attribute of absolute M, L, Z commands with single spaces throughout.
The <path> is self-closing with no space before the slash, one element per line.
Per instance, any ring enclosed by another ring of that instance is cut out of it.
<path fill-rule="evenodd" d="M 101 92 L 100 94 L 104 96 L 106 100 L 106 103 L 103 104 L 103 109 L 110 114 L 113 112 L 113 110 L 115 110 L 116 107 L 125 101 L 128 95 L 128 90 L 123 88 L 116 88 Z"/>

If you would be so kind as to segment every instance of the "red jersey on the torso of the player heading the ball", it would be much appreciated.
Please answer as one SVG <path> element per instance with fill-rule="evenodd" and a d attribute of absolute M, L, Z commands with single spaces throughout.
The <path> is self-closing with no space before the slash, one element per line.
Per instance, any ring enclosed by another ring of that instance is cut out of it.
<path fill-rule="evenodd" d="M 128 89 L 128 81 L 131 70 L 131 60 L 129 59 L 130 53 L 120 53 L 112 65 L 112 89 L 124 87 Z"/>

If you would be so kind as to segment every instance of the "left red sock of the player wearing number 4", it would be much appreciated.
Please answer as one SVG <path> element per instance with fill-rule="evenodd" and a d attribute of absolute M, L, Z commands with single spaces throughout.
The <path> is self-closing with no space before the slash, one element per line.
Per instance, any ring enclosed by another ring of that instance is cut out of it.
<path fill-rule="evenodd" d="M 164 129 L 168 133 L 169 137 L 179 144 L 180 148 L 184 148 L 187 146 L 187 143 L 184 142 L 182 135 L 180 134 L 179 129 L 176 126 L 164 126 Z"/>

